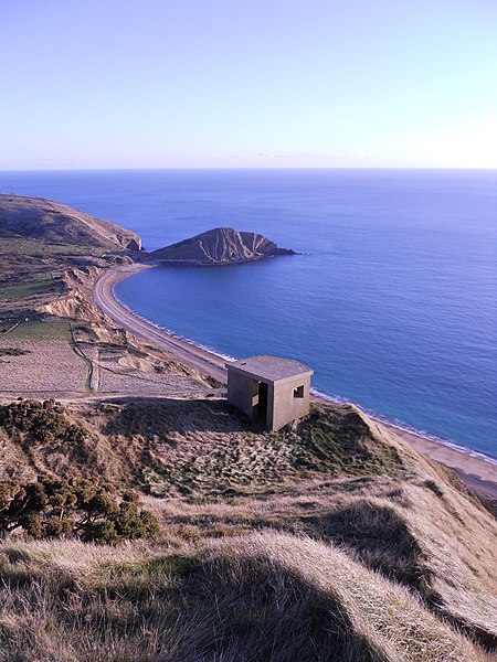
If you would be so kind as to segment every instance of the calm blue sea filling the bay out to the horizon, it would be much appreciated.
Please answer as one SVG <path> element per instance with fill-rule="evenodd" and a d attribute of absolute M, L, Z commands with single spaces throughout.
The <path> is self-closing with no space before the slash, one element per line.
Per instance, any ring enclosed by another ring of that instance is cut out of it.
<path fill-rule="evenodd" d="M 147 270 L 118 297 L 241 357 L 293 356 L 314 386 L 497 457 L 497 171 L 0 173 L 138 232 L 147 248 L 219 225 L 302 255 Z"/>

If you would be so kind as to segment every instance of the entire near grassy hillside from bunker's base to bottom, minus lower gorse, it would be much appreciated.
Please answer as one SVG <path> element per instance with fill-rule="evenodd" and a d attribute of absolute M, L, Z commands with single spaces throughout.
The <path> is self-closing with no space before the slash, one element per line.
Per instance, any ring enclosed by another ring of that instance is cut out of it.
<path fill-rule="evenodd" d="M 6 660 L 490 659 L 495 520 L 355 407 L 279 433 L 221 401 L 36 407 L 0 409 L 0 476 L 135 489 L 161 532 L 4 538 Z"/>

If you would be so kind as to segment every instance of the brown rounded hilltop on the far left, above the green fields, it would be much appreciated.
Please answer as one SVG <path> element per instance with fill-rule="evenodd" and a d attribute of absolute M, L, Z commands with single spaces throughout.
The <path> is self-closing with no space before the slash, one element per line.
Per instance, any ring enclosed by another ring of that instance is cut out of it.
<path fill-rule="evenodd" d="M 139 250 L 140 237 L 115 223 L 43 197 L 0 195 L 0 237 Z"/>

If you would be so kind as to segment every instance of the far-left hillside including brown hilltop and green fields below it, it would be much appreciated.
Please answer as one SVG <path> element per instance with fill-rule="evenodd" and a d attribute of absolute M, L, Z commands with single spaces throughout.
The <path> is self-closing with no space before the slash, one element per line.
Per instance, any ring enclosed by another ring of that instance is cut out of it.
<path fill-rule="evenodd" d="M 0 194 L 0 322 L 56 299 L 67 269 L 128 260 L 140 246 L 135 233 L 78 210 Z"/>

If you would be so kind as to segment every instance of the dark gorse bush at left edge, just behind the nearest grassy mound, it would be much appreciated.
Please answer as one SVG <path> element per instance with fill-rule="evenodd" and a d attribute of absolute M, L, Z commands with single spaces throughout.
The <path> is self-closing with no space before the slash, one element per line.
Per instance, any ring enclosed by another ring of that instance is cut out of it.
<path fill-rule="evenodd" d="M 157 519 L 139 510 L 135 493 L 119 498 L 91 481 L 51 478 L 25 484 L 0 482 L 0 534 L 20 527 L 32 538 L 78 537 L 107 544 L 152 537 L 160 531 Z"/>

